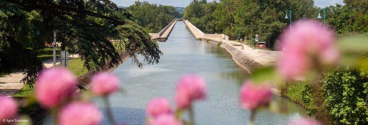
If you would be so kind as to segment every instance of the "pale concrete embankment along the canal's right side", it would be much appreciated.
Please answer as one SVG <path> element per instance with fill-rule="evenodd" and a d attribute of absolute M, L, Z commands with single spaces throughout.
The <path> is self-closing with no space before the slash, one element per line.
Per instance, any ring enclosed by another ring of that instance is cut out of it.
<path fill-rule="evenodd" d="M 279 51 L 264 52 L 265 50 L 262 49 L 252 49 L 248 45 L 230 41 L 229 37 L 224 34 L 204 34 L 189 21 L 184 22 L 197 40 L 214 44 L 221 43 L 220 47 L 225 48 L 233 56 L 233 60 L 248 72 L 261 66 L 274 65 L 281 55 Z"/>

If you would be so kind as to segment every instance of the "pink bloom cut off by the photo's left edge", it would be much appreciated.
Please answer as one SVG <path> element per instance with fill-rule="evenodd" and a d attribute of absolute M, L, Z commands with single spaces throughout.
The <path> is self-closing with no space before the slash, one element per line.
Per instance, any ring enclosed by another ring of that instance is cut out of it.
<path fill-rule="evenodd" d="M 0 119 L 13 120 L 18 113 L 17 102 L 10 97 L 0 97 Z M 2 121 L 1 121 L 2 122 Z M 1 125 L 0 122 L 0 125 Z"/>

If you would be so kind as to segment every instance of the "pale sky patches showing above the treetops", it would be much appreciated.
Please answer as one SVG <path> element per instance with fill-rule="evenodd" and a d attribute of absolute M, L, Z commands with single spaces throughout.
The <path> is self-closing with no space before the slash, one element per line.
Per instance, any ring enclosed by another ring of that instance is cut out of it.
<path fill-rule="evenodd" d="M 137 0 L 112 0 L 119 6 L 130 6 Z M 157 3 L 162 5 L 172 5 L 174 7 L 186 7 L 192 0 L 140 0 L 148 1 L 149 3 Z M 213 1 L 213 0 L 207 0 Z M 314 0 L 314 4 L 318 7 L 326 7 L 329 5 L 336 5 L 336 3 L 343 4 L 343 0 Z"/>

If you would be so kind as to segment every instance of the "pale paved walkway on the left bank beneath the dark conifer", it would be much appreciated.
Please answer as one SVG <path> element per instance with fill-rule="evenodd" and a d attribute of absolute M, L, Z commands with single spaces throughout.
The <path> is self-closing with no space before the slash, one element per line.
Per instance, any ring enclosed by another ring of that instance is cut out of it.
<path fill-rule="evenodd" d="M 69 59 L 77 58 L 78 54 L 69 55 Z M 42 62 L 46 68 L 53 66 L 53 59 Z M 60 58 L 56 59 L 56 65 L 60 63 Z M 10 75 L 0 77 L 0 95 L 11 96 L 23 88 L 24 84 L 21 80 L 24 78 L 23 72 L 17 71 Z"/>

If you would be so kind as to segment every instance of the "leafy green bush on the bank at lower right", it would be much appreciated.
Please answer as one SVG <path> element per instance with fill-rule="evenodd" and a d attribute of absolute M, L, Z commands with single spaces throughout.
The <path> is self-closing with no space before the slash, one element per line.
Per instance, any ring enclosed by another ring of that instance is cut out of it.
<path fill-rule="evenodd" d="M 367 61 L 367 60 L 366 60 Z M 289 84 L 284 96 L 304 106 L 309 115 L 333 125 L 360 125 L 368 122 L 368 70 L 344 65 L 324 73 L 317 96 L 308 80 Z M 317 98 L 315 98 L 317 97 Z M 322 105 L 316 101 L 321 100 Z"/>

